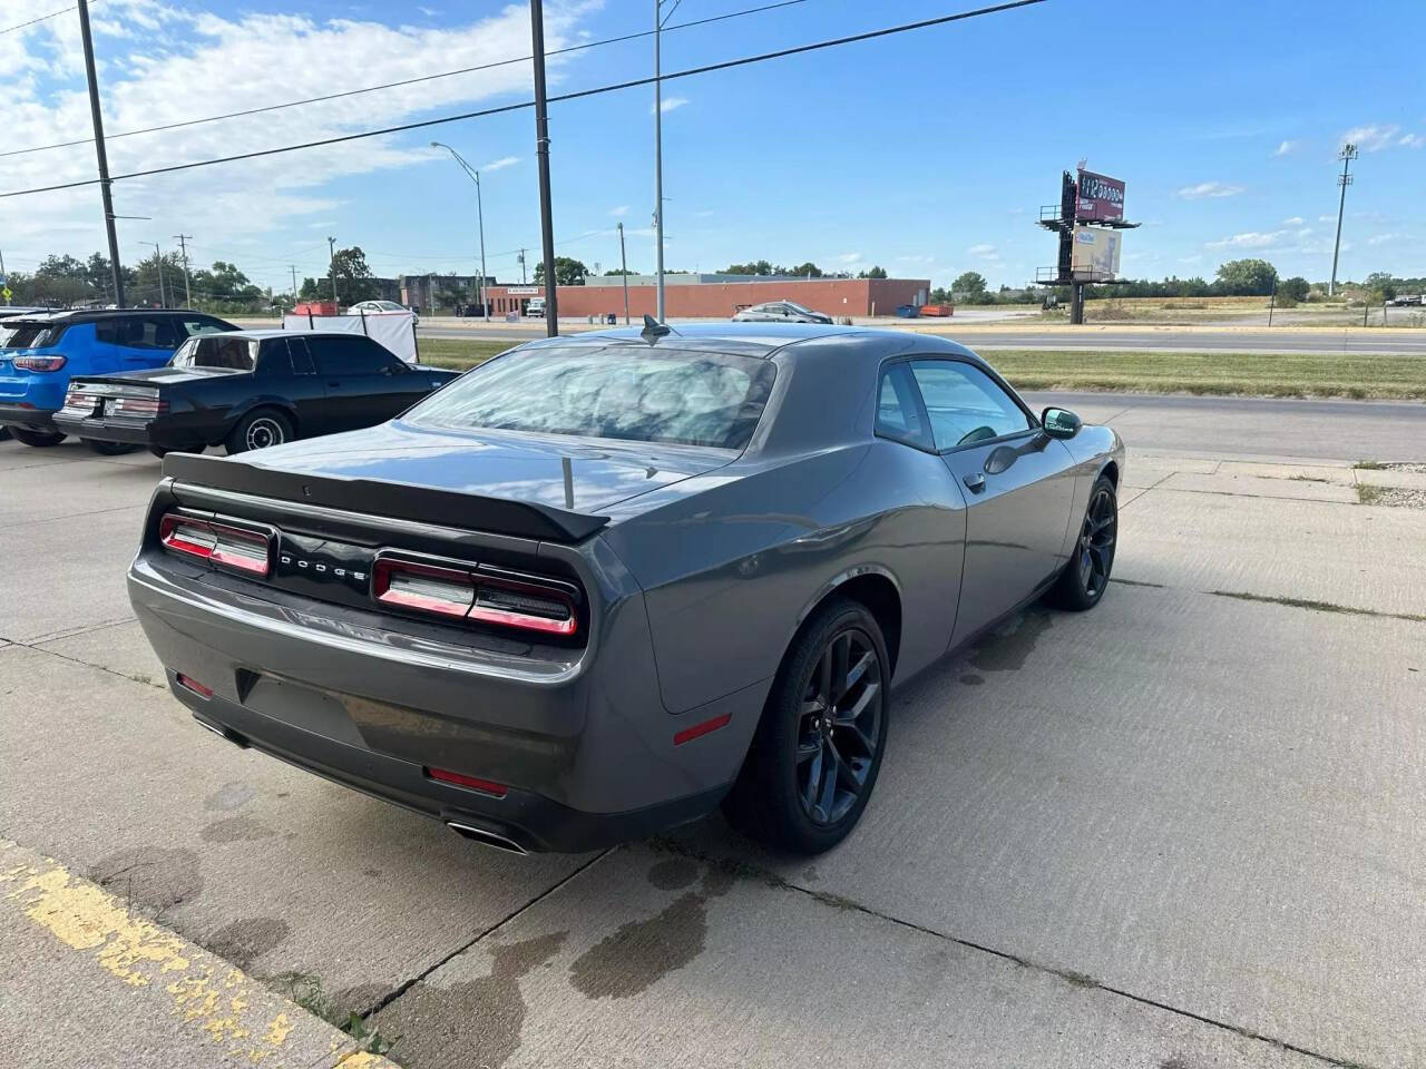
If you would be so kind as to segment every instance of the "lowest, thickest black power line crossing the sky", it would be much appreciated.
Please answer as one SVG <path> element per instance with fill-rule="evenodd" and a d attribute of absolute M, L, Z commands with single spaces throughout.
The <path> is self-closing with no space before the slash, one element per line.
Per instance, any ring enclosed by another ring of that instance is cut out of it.
<path fill-rule="evenodd" d="M 1010 0 L 1008 3 L 991 4 L 990 7 L 977 7 L 970 11 L 958 11 L 955 14 L 944 14 L 935 19 L 923 19 L 914 23 L 901 23 L 898 26 L 888 26 L 880 30 L 868 30 L 866 33 L 848 34 L 847 37 L 834 37 L 826 41 L 814 41 L 813 44 L 797 44 L 790 48 L 779 48 L 776 51 L 760 53 L 757 56 L 743 56 L 736 60 L 723 60 L 722 63 L 709 63 L 702 67 L 689 67 L 680 71 L 670 71 L 662 76 L 663 81 L 673 81 L 676 78 L 689 78 L 696 74 L 710 74 L 713 71 L 732 70 L 734 67 L 746 67 L 754 63 L 767 63 L 769 60 L 780 60 L 789 56 L 801 56 L 811 51 L 820 51 L 823 48 L 834 48 L 843 44 L 856 44 L 858 41 L 870 41 L 878 37 L 890 37 L 893 34 L 910 33 L 911 30 L 924 30 L 933 26 L 944 26 L 947 23 L 964 21 L 967 19 L 977 19 L 987 14 L 998 14 L 1001 11 L 1011 11 L 1017 7 L 1030 7 L 1032 4 L 1042 4 L 1045 0 Z M 562 93 L 559 95 L 552 95 L 549 103 L 560 103 L 568 100 L 582 100 L 585 97 L 596 97 L 603 93 L 616 93 L 619 90 L 637 88 L 639 86 L 652 86 L 656 81 L 653 77 L 647 78 L 633 78 L 630 81 L 617 81 L 609 86 L 597 86 L 595 88 L 578 90 L 575 93 Z M 361 141 L 368 137 L 382 137 L 385 134 L 402 134 L 411 130 L 425 130 L 428 127 L 445 125 L 446 123 L 463 123 L 469 118 L 486 118 L 488 115 L 501 115 L 511 111 L 523 111 L 525 108 L 535 107 L 533 100 L 525 100 L 518 104 L 502 104 L 493 108 L 482 108 L 479 111 L 465 111 L 458 115 L 443 115 L 441 118 L 428 118 L 419 123 L 404 123 L 395 127 L 385 127 L 382 130 L 366 130 L 356 134 L 342 134 L 338 137 L 327 137 L 317 141 L 304 141 L 295 145 L 282 145 L 279 148 L 260 148 L 252 153 L 238 153 L 237 155 L 222 155 L 214 160 L 194 160 L 187 164 L 170 164 L 168 167 L 154 167 L 147 171 L 130 171 L 128 174 L 111 175 L 113 181 L 121 181 L 125 178 L 148 178 L 155 174 L 173 174 L 175 171 L 191 171 L 197 167 L 214 167 L 217 164 L 231 164 L 242 160 L 257 160 L 267 155 L 281 155 L 284 153 L 297 153 L 304 148 L 324 148 L 327 145 L 344 144 L 347 141 Z M 56 185 L 37 185 L 29 190 L 11 190 L 10 192 L 0 192 L 0 200 L 9 197 L 26 197 L 36 192 L 53 192 L 56 190 L 76 190 L 84 185 L 96 185 L 97 178 L 86 178 L 74 182 L 58 182 Z"/>

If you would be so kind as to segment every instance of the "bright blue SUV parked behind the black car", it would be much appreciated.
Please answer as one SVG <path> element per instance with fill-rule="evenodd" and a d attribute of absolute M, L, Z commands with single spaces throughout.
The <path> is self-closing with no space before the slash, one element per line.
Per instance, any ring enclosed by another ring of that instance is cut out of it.
<path fill-rule="evenodd" d="M 0 348 L 0 426 L 31 446 L 64 440 L 51 418 L 64 405 L 71 375 L 161 368 L 193 335 L 238 329 L 202 312 L 157 308 L 17 316 L 4 325 L 10 336 Z M 101 453 L 127 450 L 113 442 L 90 445 Z"/>

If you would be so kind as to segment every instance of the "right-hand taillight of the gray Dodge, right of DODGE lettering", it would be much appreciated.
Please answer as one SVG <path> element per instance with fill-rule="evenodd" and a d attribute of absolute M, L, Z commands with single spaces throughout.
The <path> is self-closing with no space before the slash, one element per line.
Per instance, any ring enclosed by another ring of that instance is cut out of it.
<path fill-rule="evenodd" d="M 485 566 L 466 570 L 379 556 L 372 567 L 372 597 L 523 631 L 572 636 L 579 630 L 573 586 L 543 576 L 493 574 Z"/>

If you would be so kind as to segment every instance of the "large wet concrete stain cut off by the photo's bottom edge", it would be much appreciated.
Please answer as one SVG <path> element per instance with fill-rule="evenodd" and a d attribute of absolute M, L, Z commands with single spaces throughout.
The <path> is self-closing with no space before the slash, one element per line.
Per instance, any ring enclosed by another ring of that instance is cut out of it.
<path fill-rule="evenodd" d="M 525 999 L 520 978 L 549 962 L 569 932 L 493 946 L 489 976 L 441 988 L 426 981 L 376 1015 L 376 1026 L 395 1042 L 392 1055 L 422 1069 L 498 1069 L 520 1049 Z"/>

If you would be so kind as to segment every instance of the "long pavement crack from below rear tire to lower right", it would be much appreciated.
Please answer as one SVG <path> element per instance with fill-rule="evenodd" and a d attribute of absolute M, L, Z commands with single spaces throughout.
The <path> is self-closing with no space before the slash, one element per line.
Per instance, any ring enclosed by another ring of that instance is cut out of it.
<path fill-rule="evenodd" d="M 717 854 L 707 854 L 706 851 L 697 849 L 687 842 L 677 840 L 650 840 L 649 844 L 653 849 L 662 849 L 670 854 L 679 854 L 683 857 L 694 858 L 706 865 L 719 867 L 734 877 L 744 879 L 756 878 L 766 882 L 769 887 L 779 891 L 791 891 L 796 894 L 807 895 L 823 905 L 829 905 L 833 909 L 844 909 L 850 912 L 863 914 L 866 916 L 877 918 L 878 921 L 886 921 L 887 924 L 897 925 L 898 928 L 906 928 L 913 932 L 920 932 L 921 935 L 930 935 L 934 939 L 944 939 L 945 942 L 953 942 L 957 946 L 964 946 L 968 951 L 975 951 L 977 954 L 988 954 L 992 958 L 1000 958 L 1001 961 L 1011 962 L 1025 969 L 1034 969 L 1035 972 L 1044 972 L 1047 975 L 1055 976 L 1065 983 L 1072 983 L 1077 988 L 1087 988 L 1094 991 L 1101 991 L 1107 995 L 1114 995 L 1115 998 L 1122 998 L 1129 1002 L 1135 1002 L 1141 1006 L 1149 1006 L 1152 1009 L 1164 1011 L 1165 1013 L 1174 1013 L 1175 1016 L 1185 1018 L 1188 1021 L 1196 1021 L 1201 1025 L 1208 1025 L 1209 1028 L 1216 1028 L 1224 1032 L 1231 1032 L 1243 1039 L 1251 1039 L 1259 1043 L 1268 1043 L 1269 1046 L 1278 1048 L 1281 1050 L 1291 1050 L 1292 1053 L 1303 1055 L 1305 1058 L 1312 1058 L 1323 1065 L 1338 1066 L 1339 1069 L 1373 1069 L 1365 1062 L 1359 1062 L 1350 1058 L 1335 1058 L 1332 1055 L 1322 1053 L 1320 1050 L 1312 1050 L 1310 1048 L 1301 1046 L 1298 1043 L 1291 1043 L 1276 1036 L 1271 1036 L 1265 1032 L 1258 1032 L 1256 1029 L 1246 1028 L 1243 1025 L 1235 1025 L 1231 1021 L 1219 1021 L 1218 1018 L 1211 1018 L 1204 1013 L 1195 1013 L 1191 1009 L 1184 1009 L 1181 1006 L 1174 1006 L 1166 1002 L 1159 1002 L 1158 999 L 1149 998 L 1148 995 L 1137 995 L 1132 991 L 1124 988 L 1117 988 L 1105 981 L 1095 979 L 1094 976 L 1078 972 L 1075 969 L 1067 969 L 1057 965 L 1048 965 L 1045 962 L 1037 962 L 1031 958 L 1024 958 L 1011 951 L 1000 949 L 998 946 L 990 946 L 988 944 L 975 942 L 974 939 L 965 939 L 950 932 L 941 932 L 935 928 L 928 928 L 927 925 L 917 924 L 914 921 L 906 921 L 900 916 L 893 916 L 884 914 L 880 909 L 873 909 L 868 905 L 863 905 L 851 898 L 834 894 L 831 891 L 814 891 L 811 888 L 800 887 L 791 882 L 779 872 L 763 868 L 761 865 L 753 864 L 750 861 L 742 861 L 736 858 L 727 858 Z"/>

